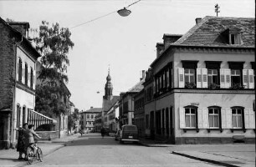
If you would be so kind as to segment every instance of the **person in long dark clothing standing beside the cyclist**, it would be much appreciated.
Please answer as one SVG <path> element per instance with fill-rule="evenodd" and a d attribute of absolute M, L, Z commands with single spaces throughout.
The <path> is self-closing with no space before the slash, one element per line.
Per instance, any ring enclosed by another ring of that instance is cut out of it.
<path fill-rule="evenodd" d="M 28 124 L 23 124 L 23 127 L 19 127 L 15 130 L 18 130 L 18 144 L 17 144 L 17 151 L 18 151 L 18 159 L 25 159 L 23 158 L 23 154 L 26 155 L 26 134 L 28 134 Z"/>

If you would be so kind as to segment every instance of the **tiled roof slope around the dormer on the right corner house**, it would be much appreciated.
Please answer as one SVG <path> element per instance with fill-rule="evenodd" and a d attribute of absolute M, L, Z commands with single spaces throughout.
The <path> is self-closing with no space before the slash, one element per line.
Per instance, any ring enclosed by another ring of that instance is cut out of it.
<path fill-rule="evenodd" d="M 243 43 L 229 45 L 223 33 L 227 30 L 239 30 Z M 172 45 L 216 46 L 216 47 L 254 47 L 255 18 L 225 18 L 207 16 L 196 24 L 182 38 Z"/>

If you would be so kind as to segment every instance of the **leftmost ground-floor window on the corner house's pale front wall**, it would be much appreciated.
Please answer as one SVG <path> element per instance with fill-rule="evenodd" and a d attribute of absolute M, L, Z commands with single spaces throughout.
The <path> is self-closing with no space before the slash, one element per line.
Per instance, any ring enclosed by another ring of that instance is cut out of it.
<path fill-rule="evenodd" d="M 197 127 L 197 115 L 195 108 L 185 109 L 185 123 L 186 128 L 196 128 Z"/>

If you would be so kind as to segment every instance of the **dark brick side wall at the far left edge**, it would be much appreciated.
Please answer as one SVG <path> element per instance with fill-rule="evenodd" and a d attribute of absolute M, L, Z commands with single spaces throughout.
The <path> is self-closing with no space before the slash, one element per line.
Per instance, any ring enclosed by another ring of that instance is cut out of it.
<path fill-rule="evenodd" d="M 12 32 L 0 23 L 0 110 L 13 109 L 15 48 Z"/>

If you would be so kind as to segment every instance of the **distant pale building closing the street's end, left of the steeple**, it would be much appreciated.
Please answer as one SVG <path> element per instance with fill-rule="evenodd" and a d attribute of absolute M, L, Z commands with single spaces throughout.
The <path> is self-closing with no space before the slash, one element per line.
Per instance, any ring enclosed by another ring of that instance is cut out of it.
<path fill-rule="evenodd" d="M 101 108 L 93 108 L 83 111 L 80 113 L 80 124 L 84 126 L 84 130 L 95 129 L 95 117 L 101 113 Z"/>

